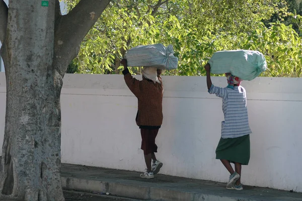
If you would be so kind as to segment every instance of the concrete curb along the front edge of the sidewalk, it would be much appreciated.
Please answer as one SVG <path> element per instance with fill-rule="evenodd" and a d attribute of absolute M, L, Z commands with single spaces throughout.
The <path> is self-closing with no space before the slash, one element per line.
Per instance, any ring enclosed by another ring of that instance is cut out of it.
<path fill-rule="evenodd" d="M 143 200 L 165 201 L 259 201 L 259 199 L 243 199 L 240 197 L 219 196 L 188 191 L 176 191 L 168 188 L 131 185 L 120 182 L 103 182 L 73 177 L 61 177 L 65 190 L 80 190 L 88 192 L 109 192 L 115 196 L 129 197 Z"/>

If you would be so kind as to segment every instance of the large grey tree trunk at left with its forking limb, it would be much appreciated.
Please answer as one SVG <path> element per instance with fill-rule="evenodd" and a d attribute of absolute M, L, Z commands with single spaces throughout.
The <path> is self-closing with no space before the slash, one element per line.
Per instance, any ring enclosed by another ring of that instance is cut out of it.
<path fill-rule="evenodd" d="M 7 18 L 0 19 L 7 84 L 0 199 L 64 200 L 60 178 L 63 76 L 110 1 L 81 2 L 78 15 L 61 16 L 58 0 L 48 1 L 48 6 L 38 0 L 14 0 L 9 2 Z M 2 3 L 1 12 L 7 10 Z"/>

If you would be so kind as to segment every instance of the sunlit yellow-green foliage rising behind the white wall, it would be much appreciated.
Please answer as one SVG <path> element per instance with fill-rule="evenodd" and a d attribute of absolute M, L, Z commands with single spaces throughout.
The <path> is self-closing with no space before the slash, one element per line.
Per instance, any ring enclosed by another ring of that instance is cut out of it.
<path fill-rule="evenodd" d="M 72 8 L 74 0 L 66 0 Z M 274 20 L 272 20 L 274 16 Z M 284 24 L 284 18 L 291 24 Z M 281 23 L 283 22 L 283 23 Z M 112 1 L 89 32 L 73 65 L 78 73 L 120 74 L 120 59 L 136 45 L 172 44 L 179 68 L 165 75 L 205 75 L 213 52 L 261 51 L 268 62 L 263 76 L 299 77 L 301 17 L 283 0 Z M 139 73 L 139 68 L 131 68 Z"/>

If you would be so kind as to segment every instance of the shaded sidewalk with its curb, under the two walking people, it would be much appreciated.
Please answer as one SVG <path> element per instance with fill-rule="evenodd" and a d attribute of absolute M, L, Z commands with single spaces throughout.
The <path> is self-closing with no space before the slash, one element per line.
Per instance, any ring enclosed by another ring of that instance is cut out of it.
<path fill-rule="evenodd" d="M 62 164 L 64 189 L 106 193 L 141 200 L 171 201 L 302 201 L 302 193 L 244 186 L 225 189 L 225 183 L 158 174 L 142 179 L 138 172 Z"/>

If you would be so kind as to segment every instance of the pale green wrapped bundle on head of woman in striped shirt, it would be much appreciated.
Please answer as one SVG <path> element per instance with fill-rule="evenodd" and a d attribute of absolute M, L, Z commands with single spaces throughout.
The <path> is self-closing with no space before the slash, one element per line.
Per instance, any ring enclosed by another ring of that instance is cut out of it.
<path fill-rule="evenodd" d="M 266 70 L 263 54 L 253 50 L 217 51 L 209 60 L 212 74 L 231 73 L 243 80 L 253 80 Z"/>

